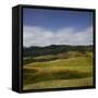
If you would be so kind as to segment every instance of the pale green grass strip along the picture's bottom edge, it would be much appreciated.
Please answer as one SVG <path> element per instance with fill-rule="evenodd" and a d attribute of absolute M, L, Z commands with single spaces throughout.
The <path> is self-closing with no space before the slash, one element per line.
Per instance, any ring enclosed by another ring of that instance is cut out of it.
<path fill-rule="evenodd" d="M 76 79 L 52 79 L 46 82 L 39 82 L 35 84 L 29 84 L 24 87 L 27 89 L 45 89 L 45 88 L 64 88 L 64 87 L 84 87 L 93 86 L 93 77 L 76 78 Z"/>

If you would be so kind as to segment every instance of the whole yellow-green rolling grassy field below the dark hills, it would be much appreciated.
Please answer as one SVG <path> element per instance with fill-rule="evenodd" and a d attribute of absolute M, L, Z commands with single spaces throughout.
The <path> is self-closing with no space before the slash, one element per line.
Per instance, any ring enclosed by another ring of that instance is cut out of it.
<path fill-rule="evenodd" d="M 81 54 L 71 51 L 57 56 L 40 56 L 34 59 L 26 58 L 24 62 L 24 90 L 93 86 L 91 52 Z"/>

